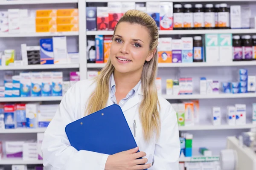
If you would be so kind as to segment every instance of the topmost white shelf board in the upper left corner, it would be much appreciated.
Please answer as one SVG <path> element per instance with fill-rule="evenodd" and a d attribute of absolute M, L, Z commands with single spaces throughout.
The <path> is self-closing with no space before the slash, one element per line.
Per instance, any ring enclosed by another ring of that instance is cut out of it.
<path fill-rule="evenodd" d="M 78 3 L 78 0 L 1 0 L 0 5 Z"/>

